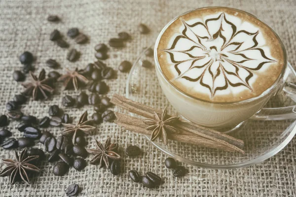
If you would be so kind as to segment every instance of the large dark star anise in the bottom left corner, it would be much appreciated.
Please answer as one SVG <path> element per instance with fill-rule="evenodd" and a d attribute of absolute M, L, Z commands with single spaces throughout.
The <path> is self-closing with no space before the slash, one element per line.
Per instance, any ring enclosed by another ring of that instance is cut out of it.
<path fill-rule="evenodd" d="M 28 171 L 39 172 L 40 169 L 30 162 L 36 160 L 39 156 L 27 156 L 27 149 L 25 148 L 20 155 L 15 151 L 15 160 L 3 159 L 4 164 L 8 164 L 1 172 L 0 176 L 10 176 L 10 184 L 13 185 L 19 178 L 26 183 L 30 183 L 28 178 Z"/>

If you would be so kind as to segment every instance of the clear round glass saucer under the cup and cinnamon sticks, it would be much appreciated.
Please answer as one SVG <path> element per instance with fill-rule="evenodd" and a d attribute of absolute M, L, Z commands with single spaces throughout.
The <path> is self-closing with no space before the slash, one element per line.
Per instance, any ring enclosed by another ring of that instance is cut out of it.
<path fill-rule="evenodd" d="M 155 108 L 168 107 L 170 115 L 178 115 L 161 91 L 153 57 L 145 55 L 147 50 L 139 55 L 130 70 L 126 83 L 126 97 Z M 151 62 L 152 66 L 150 68 L 141 66 L 144 60 Z M 290 69 L 289 76 L 287 76 L 288 81 L 296 83 L 295 70 L 290 64 L 288 69 Z M 292 99 L 277 95 L 271 98 L 264 107 L 281 109 L 292 105 L 295 105 Z M 252 117 L 240 127 L 225 132 L 245 142 L 243 148 L 245 154 L 205 148 L 198 146 L 198 144 L 193 145 L 173 140 L 169 140 L 167 145 L 163 145 L 161 140 L 151 143 L 170 157 L 187 164 L 214 169 L 232 169 L 258 164 L 277 154 L 294 137 L 296 121 L 295 119 L 266 121 L 260 117 Z M 150 141 L 150 136 L 145 136 Z"/>

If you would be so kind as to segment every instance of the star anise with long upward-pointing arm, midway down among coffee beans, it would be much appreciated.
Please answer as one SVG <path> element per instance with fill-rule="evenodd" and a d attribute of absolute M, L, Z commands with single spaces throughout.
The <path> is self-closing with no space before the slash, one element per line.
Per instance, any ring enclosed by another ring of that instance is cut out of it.
<path fill-rule="evenodd" d="M 64 131 L 61 132 L 62 135 L 73 135 L 72 141 L 75 142 L 75 138 L 78 132 L 90 133 L 91 131 L 95 130 L 96 127 L 91 126 L 92 120 L 87 120 L 87 111 L 85 111 L 78 123 L 76 125 L 73 124 L 64 124 L 63 126 L 66 127 Z"/>

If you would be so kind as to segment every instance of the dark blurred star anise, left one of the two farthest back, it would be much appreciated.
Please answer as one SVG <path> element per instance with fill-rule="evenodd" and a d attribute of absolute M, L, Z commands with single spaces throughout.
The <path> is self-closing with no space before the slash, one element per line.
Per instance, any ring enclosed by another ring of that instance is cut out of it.
<path fill-rule="evenodd" d="M 34 100 L 47 99 L 49 94 L 52 94 L 54 89 L 52 87 L 52 79 L 45 78 L 45 70 L 42 69 L 37 77 L 33 72 L 30 71 L 32 82 L 23 83 L 22 85 L 26 88 L 23 92 L 25 95 L 32 95 Z"/>

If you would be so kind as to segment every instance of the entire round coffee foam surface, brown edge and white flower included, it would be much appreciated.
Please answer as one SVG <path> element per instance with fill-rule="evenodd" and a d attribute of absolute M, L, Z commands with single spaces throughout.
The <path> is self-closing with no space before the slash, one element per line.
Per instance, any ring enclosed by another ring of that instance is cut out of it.
<path fill-rule="evenodd" d="M 230 102 L 260 95 L 280 75 L 284 53 L 265 24 L 231 8 L 207 8 L 179 17 L 157 50 L 162 71 L 198 99 Z"/>

